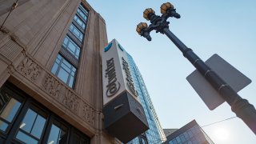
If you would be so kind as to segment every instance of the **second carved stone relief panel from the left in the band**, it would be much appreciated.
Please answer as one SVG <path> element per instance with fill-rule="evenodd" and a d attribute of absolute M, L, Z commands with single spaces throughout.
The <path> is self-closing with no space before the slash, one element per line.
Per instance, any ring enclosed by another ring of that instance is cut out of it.
<path fill-rule="evenodd" d="M 42 82 L 42 89 L 46 90 L 46 92 L 55 99 L 58 99 L 58 95 L 61 90 L 61 83 L 50 74 L 46 74 L 46 77 Z"/>

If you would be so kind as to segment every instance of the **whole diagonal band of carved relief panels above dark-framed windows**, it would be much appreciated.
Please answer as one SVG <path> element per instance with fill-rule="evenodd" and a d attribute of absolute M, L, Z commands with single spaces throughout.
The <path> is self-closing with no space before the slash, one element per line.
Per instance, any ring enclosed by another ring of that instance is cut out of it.
<path fill-rule="evenodd" d="M 11 72 L 11 67 L 8 68 Z M 90 106 L 81 96 L 62 83 L 60 79 L 50 74 L 49 71 L 44 70 L 26 54 L 16 70 L 35 85 L 41 83 L 38 87 L 41 87 L 42 90 L 44 90 L 46 94 L 49 94 L 50 97 L 54 98 L 56 102 L 59 102 L 65 106 L 67 110 L 78 115 L 79 118 L 90 124 L 90 126 L 95 126 L 96 110 L 94 107 Z M 44 71 L 42 72 L 42 70 Z M 40 74 L 44 74 L 44 76 L 40 76 L 39 78 Z M 42 82 L 37 82 L 40 79 Z"/>

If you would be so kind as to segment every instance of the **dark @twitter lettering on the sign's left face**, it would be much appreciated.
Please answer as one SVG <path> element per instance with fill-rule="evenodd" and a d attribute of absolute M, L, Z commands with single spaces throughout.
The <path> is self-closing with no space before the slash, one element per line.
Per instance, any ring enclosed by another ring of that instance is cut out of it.
<path fill-rule="evenodd" d="M 108 79 L 108 84 L 106 85 L 106 96 L 111 97 L 117 94 L 120 89 L 120 83 L 118 82 L 117 75 L 115 73 L 114 58 L 106 60 L 106 70 L 105 78 Z"/>

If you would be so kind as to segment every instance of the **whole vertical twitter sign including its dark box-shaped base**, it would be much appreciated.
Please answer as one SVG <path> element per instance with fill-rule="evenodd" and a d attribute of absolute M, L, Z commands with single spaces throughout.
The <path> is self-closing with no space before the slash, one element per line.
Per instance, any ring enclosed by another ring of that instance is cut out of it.
<path fill-rule="evenodd" d="M 149 129 L 132 72 L 126 51 L 112 40 L 102 52 L 104 126 L 123 143 Z"/>

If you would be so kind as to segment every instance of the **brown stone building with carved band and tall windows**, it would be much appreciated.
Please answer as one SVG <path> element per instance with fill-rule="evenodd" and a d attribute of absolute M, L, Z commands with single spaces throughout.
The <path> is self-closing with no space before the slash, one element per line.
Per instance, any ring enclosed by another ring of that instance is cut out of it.
<path fill-rule="evenodd" d="M 103 18 L 84 0 L 13 2 L 0 2 L 0 143 L 117 142 L 102 126 Z"/>

